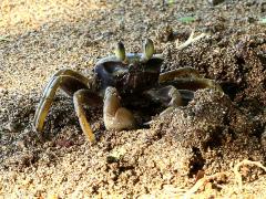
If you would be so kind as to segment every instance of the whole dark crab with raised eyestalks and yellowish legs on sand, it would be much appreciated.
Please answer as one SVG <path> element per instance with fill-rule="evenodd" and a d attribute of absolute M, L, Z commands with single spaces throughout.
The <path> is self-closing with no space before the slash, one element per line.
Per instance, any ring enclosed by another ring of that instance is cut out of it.
<path fill-rule="evenodd" d="M 92 143 L 95 142 L 95 135 L 84 105 L 92 107 L 102 104 L 105 128 L 122 130 L 137 126 L 133 113 L 126 107 L 136 98 L 161 103 L 164 107 L 158 114 L 161 116 L 192 100 L 193 92 L 198 88 L 223 92 L 215 81 L 201 77 L 193 67 L 161 73 L 163 62 L 162 54 L 155 54 L 153 41 L 146 39 L 142 53 L 125 53 L 123 43 L 119 42 L 114 55 L 98 61 L 93 75 L 89 77 L 70 69 L 58 71 L 44 87 L 37 107 L 33 119 L 35 130 L 43 130 L 58 88 L 73 97 L 81 129 Z"/>

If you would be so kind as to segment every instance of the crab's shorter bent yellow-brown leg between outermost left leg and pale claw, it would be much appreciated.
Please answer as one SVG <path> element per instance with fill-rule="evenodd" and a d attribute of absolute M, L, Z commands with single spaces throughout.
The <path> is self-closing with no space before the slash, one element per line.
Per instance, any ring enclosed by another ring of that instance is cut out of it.
<path fill-rule="evenodd" d="M 93 143 L 95 142 L 95 136 L 91 129 L 91 126 L 86 119 L 83 104 L 95 106 L 101 102 L 101 97 L 90 92 L 89 90 L 80 90 L 73 95 L 75 113 L 79 117 L 80 126 L 82 132 L 85 134 L 86 138 Z"/>

